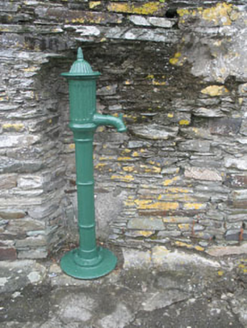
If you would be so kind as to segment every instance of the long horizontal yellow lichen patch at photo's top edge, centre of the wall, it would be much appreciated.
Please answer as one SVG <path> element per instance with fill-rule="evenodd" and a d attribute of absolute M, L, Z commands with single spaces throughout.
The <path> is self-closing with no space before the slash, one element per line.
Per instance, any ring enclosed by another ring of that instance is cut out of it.
<path fill-rule="evenodd" d="M 109 11 L 118 13 L 138 14 L 138 15 L 154 15 L 163 8 L 163 4 L 159 2 L 147 2 L 140 5 L 130 3 L 110 3 L 107 6 Z"/>

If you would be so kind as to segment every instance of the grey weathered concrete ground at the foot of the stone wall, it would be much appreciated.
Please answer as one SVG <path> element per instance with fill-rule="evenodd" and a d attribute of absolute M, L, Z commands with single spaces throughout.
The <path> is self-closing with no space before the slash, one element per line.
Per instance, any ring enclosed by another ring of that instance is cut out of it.
<path fill-rule="evenodd" d="M 84 281 L 59 256 L 0 263 L 1 328 L 247 327 L 247 256 L 116 248 L 117 268 Z"/>

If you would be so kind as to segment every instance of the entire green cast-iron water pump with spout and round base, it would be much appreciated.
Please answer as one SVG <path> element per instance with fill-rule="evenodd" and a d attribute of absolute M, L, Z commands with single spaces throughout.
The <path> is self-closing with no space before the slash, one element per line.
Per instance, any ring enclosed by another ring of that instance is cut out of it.
<path fill-rule="evenodd" d="M 79 247 L 66 253 L 60 265 L 66 274 L 77 279 L 104 276 L 117 264 L 116 256 L 96 243 L 93 137 L 100 125 L 114 126 L 119 132 L 126 131 L 126 127 L 122 116 L 96 112 L 96 80 L 99 75 L 84 60 L 81 48 L 70 71 L 62 73 L 69 83 L 69 127 L 75 141 Z"/>

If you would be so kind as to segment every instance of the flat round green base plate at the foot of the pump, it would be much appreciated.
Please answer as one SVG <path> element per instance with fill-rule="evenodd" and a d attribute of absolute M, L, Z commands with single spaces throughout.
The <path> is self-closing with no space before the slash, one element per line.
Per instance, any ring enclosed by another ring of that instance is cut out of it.
<path fill-rule="evenodd" d="M 81 266 L 75 262 L 76 249 L 66 253 L 61 261 L 61 269 L 77 279 L 95 279 L 102 277 L 115 269 L 117 264 L 116 256 L 106 248 L 99 248 L 99 263 L 95 265 Z"/>

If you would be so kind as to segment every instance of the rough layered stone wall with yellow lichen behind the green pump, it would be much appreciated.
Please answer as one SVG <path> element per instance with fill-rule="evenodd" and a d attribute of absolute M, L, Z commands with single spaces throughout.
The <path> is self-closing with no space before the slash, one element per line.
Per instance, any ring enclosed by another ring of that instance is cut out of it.
<path fill-rule="evenodd" d="M 69 70 L 81 46 L 98 110 L 98 236 L 213 254 L 247 239 L 245 1 L 0 3 L 0 258 L 76 240 Z M 68 234 L 69 232 L 69 234 Z"/>

